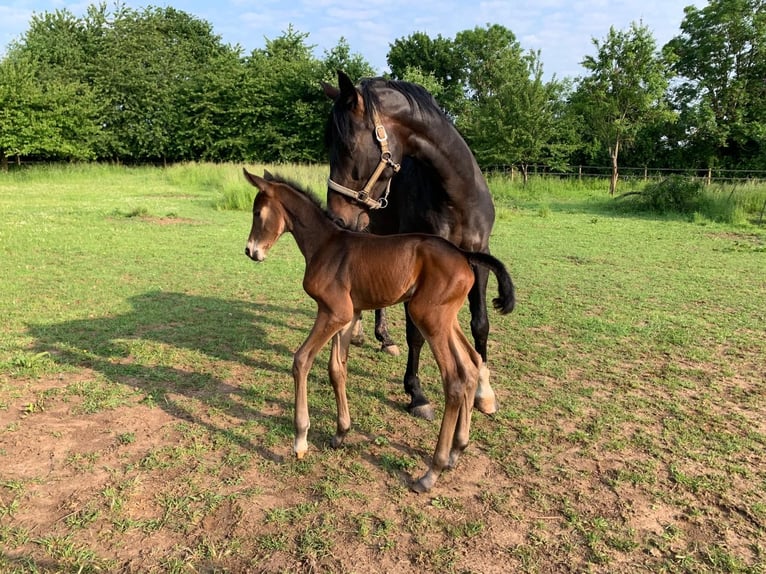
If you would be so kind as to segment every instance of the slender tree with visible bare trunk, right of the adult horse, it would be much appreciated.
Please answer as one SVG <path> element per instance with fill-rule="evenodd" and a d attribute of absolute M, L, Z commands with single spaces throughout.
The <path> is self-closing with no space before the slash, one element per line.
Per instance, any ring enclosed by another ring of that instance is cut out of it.
<path fill-rule="evenodd" d="M 586 56 L 583 67 L 590 75 L 580 79 L 573 103 L 595 137 L 609 153 L 614 194 L 622 148 L 659 115 L 666 113 L 664 94 L 668 68 L 656 50 L 646 26 L 631 24 L 627 31 L 609 29 L 602 42 L 593 39 L 595 56 Z"/>

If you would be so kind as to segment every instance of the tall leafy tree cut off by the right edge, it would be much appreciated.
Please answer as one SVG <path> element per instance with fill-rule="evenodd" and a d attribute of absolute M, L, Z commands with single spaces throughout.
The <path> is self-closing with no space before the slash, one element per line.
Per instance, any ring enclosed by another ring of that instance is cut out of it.
<path fill-rule="evenodd" d="M 766 3 L 710 0 L 684 10 L 681 34 L 665 45 L 682 144 L 697 163 L 757 166 L 766 160 Z"/>

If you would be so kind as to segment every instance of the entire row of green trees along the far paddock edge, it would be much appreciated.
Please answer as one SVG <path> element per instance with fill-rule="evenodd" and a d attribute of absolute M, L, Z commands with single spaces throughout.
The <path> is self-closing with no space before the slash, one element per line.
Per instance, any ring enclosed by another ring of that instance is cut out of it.
<path fill-rule="evenodd" d="M 766 169 L 764 0 L 685 9 L 658 46 L 610 28 L 585 74 L 546 80 L 540 52 L 488 24 L 389 45 L 392 79 L 434 94 L 482 166 Z M 244 54 L 172 7 L 32 17 L 0 60 L 0 162 L 323 162 L 322 81 L 377 72 L 344 38 L 313 55 L 292 26 Z"/>

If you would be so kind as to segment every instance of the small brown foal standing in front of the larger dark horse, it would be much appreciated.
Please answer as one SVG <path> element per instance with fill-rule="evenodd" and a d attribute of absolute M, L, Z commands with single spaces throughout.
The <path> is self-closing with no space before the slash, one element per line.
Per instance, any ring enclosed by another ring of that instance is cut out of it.
<path fill-rule="evenodd" d="M 491 269 L 498 280 L 494 299 L 501 313 L 514 306 L 511 277 L 503 264 L 483 253 L 458 249 L 425 234 L 379 236 L 345 230 L 335 224 L 316 198 L 294 186 L 245 170 L 260 191 L 253 201 L 253 224 L 245 254 L 263 261 L 286 232 L 306 259 L 303 288 L 317 302 L 317 316 L 293 358 L 295 379 L 294 450 L 308 450 L 309 413 L 306 379 L 319 350 L 332 339 L 329 373 L 338 408 L 332 446 L 343 442 L 351 426 L 346 401 L 346 361 L 355 319 L 364 310 L 408 302 L 409 317 L 433 351 L 444 387 L 444 416 L 433 461 L 412 488 L 430 490 L 445 468 L 452 468 L 468 444 L 482 360 L 458 323 L 458 311 L 475 281 L 476 267 Z"/>

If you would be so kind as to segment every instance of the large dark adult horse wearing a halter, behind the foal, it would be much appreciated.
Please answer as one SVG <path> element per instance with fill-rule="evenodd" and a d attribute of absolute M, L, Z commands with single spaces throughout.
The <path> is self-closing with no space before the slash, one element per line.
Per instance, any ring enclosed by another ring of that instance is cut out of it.
<path fill-rule="evenodd" d="M 325 141 L 330 155 L 327 208 L 338 222 L 372 233 L 440 235 L 467 251 L 489 253 L 495 208 L 471 150 L 434 98 L 421 86 L 372 78 L 357 87 L 338 72 L 339 87 L 323 84 L 333 100 Z M 477 268 L 468 294 L 471 333 L 483 366 L 476 408 L 497 409 L 487 368 L 488 272 Z M 404 390 L 410 413 L 433 418 L 420 385 L 423 336 L 407 317 L 409 349 Z M 376 336 L 392 344 L 385 322 Z"/>

